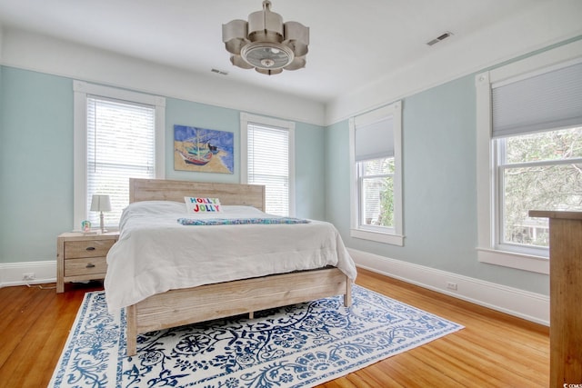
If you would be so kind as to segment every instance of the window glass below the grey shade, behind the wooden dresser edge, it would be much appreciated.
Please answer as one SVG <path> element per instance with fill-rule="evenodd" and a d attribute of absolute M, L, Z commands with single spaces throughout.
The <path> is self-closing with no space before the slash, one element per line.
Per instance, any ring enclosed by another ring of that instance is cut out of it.
<path fill-rule="evenodd" d="M 547 218 L 532 209 L 582 210 L 582 126 L 494 140 L 497 246 L 547 255 Z"/>

